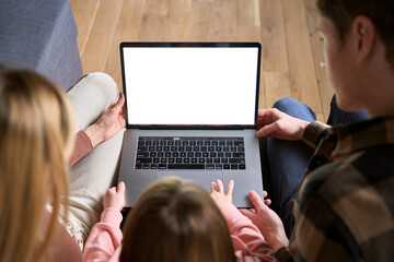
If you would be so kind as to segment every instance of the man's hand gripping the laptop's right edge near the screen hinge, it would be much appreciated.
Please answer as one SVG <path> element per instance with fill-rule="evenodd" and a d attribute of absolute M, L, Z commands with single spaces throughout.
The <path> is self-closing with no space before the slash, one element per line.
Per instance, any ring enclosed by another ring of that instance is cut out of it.
<path fill-rule="evenodd" d="M 310 122 L 293 118 L 276 108 L 259 109 L 257 119 L 257 136 L 297 141 L 302 140 Z"/>

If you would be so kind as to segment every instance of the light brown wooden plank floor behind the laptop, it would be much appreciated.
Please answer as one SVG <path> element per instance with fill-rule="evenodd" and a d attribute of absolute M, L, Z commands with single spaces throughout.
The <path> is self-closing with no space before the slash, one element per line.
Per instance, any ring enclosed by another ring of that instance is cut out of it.
<path fill-rule="evenodd" d="M 84 73 L 121 87 L 119 43 L 259 41 L 259 108 L 285 96 L 328 116 L 333 91 L 320 67 L 315 0 L 70 0 Z"/>

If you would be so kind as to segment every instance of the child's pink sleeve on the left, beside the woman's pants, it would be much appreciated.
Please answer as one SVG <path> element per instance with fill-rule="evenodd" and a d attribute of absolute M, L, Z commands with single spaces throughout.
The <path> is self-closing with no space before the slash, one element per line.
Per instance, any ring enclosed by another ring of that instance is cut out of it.
<path fill-rule="evenodd" d="M 123 239 L 119 228 L 123 217 L 119 211 L 108 207 L 101 215 L 89 235 L 83 250 L 83 261 L 109 261 Z"/>

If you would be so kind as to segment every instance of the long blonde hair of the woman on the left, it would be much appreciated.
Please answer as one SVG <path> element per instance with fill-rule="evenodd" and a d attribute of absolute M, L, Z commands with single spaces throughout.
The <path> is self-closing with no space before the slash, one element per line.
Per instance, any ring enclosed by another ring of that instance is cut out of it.
<path fill-rule="evenodd" d="M 71 103 L 54 83 L 0 68 L 0 261 L 48 260 L 60 206 L 67 206 L 73 121 Z"/>

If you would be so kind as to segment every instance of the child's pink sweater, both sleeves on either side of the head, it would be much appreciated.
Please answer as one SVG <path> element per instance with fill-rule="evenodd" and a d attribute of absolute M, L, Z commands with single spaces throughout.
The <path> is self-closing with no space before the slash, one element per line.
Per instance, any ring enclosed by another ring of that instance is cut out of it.
<path fill-rule="evenodd" d="M 255 225 L 234 205 L 228 205 L 222 214 L 230 228 L 237 261 L 277 261 L 269 243 Z M 119 261 L 123 234 L 119 211 L 108 207 L 101 215 L 101 222 L 93 228 L 83 251 L 83 261 Z"/>

